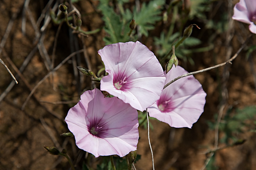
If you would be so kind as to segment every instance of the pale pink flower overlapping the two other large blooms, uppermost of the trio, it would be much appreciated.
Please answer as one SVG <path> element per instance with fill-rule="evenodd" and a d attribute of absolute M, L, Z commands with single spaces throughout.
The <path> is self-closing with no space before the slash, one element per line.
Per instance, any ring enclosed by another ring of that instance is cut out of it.
<path fill-rule="evenodd" d="M 162 66 L 140 42 L 116 43 L 98 51 L 108 73 L 101 90 L 143 111 L 159 99 L 165 76 Z"/>

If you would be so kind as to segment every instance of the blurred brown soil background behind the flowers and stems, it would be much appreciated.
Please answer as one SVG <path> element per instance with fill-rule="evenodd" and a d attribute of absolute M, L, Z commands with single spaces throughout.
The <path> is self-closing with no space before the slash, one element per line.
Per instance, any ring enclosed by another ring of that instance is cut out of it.
<path fill-rule="evenodd" d="M 74 66 L 88 68 L 84 57 L 84 55 L 88 55 L 92 70 L 97 72 L 100 69 L 101 59 L 97 51 L 104 47 L 102 40 L 105 36 L 104 30 L 88 37 L 77 38 L 77 34 L 69 35 L 68 27 L 63 24 L 57 39 L 54 66 L 57 66 L 74 51 L 82 48 L 85 48 L 86 51 L 68 60 L 53 76 L 46 79 L 28 101 L 25 109 L 21 109 L 31 89 L 49 73 L 45 63 L 47 63 L 47 55 L 52 59 L 58 25 L 50 22 L 44 31 L 45 36 L 44 39 L 41 39 L 42 43 L 38 43 L 36 31 L 31 22 L 31 20 L 35 22 L 38 20 L 47 2 L 46 0 L 30 0 L 28 5 L 30 10 L 27 10 L 24 13 L 25 17 L 22 17 L 24 0 L 0 1 L 1 42 L 5 38 L 3 36 L 6 35 L 6 30 L 10 29 L 3 48 L 1 44 L 2 53 L 0 58 L 16 75 L 17 72 L 14 66 L 19 69 L 24 60 L 32 53 L 25 70 L 21 73 L 21 78 L 18 79 L 19 83 L 14 85 L 4 99 L 0 101 L 0 170 L 69 169 L 66 159 L 50 155 L 43 148 L 44 145 L 55 146 L 60 149 L 66 148 L 72 160 L 77 163 L 77 169 L 81 168 L 79 162 L 82 162 L 86 155 L 84 151 L 79 151 L 76 147 L 74 138 L 63 138 L 60 134 L 68 131 L 63 120 L 69 108 L 79 101 L 79 94 L 83 90 L 93 89 L 90 78 L 80 74 Z M 230 9 L 228 8 L 228 2 L 231 3 L 232 9 L 237 1 L 220 0 L 213 3 L 207 17 L 218 20 L 221 11 Z M 82 28 L 86 31 L 102 28 L 104 25 L 101 19 L 102 15 L 96 10 L 97 3 L 94 0 L 82 0 L 75 4 L 82 14 Z M 130 4 L 133 3 L 133 1 L 130 2 Z M 230 15 L 232 15 L 232 10 L 230 11 Z M 15 13 L 17 13 L 17 17 L 12 19 Z M 214 16 L 212 16 L 213 13 Z M 24 22 L 25 34 L 22 34 L 23 18 L 26 18 Z M 13 21 L 13 26 L 7 29 L 10 21 Z M 248 25 L 233 20 L 229 21 L 228 31 L 221 34 L 204 28 L 203 23 L 201 25 L 198 23 L 198 25 L 202 29 L 194 31 L 192 36 L 201 37 L 203 44 L 207 44 L 209 43 L 208 38 L 214 34 L 214 39 L 211 42 L 214 49 L 193 54 L 192 59 L 195 61 L 195 65 L 190 65 L 181 60 L 179 65 L 188 71 L 200 70 L 226 61 L 227 57 L 229 58 L 236 53 L 250 34 Z M 39 28 L 41 26 L 42 24 Z M 159 36 L 161 29 L 167 28 L 158 23 L 156 29 L 150 32 L 150 36 Z M 142 38 L 141 42 L 154 52 L 155 47 L 152 38 L 147 40 Z M 250 46 L 255 43 L 256 37 L 253 35 L 247 45 Z M 13 62 L 13 65 L 10 61 Z M 209 154 L 200 153 L 206 151 L 207 148 L 213 148 L 215 139 L 214 130 L 209 129 L 206 122 L 214 121 L 214 114 L 220 110 L 221 94 L 228 94 L 228 96 L 226 95 L 227 100 L 224 101 L 224 114 L 230 106 L 243 108 L 255 105 L 256 87 L 253 81 L 255 75 L 252 71 L 252 68 L 255 69 L 255 63 L 254 53 L 248 61 L 245 59 L 245 51 L 242 50 L 232 62 L 232 65 L 229 65 L 227 72 L 224 71 L 224 67 L 221 67 L 195 75 L 202 83 L 207 97 L 204 113 L 192 129 L 176 129 L 159 121 L 151 121 L 154 127 L 151 130 L 151 143 L 156 169 L 197 170 L 203 167 Z M 223 76 L 223 73 L 229 75 L 228 80 L 224 82 L 223 77 L 225 76 Z M 5 93 L 11 82 L 11 76 L 4 66 L 0 65 L 0 94 Z M 221 85 L 223 85 L 224 90 L 221 90 Z M 224 93 L 225 90 L 228 93 Z M 46 103 L 45 101 L 52 103 Z M 54 103 L 60 101 L 65 101 L 68 104 Z M 252 124 L 251 128 L 255 129 L 255 125 Z M 149 170 L 152 169 L 152 163 L 147 131 L 143 127 L 140 127 L 139 131 L 140 140 L 137 153 L 141 155 L 141 159 L 137 161 L 135 166 L 137 170 Z M 247 141 L 242 145 L 217 151 L 215 164 L 219 167 L 218 169 L 255 170 L 256 134 L 251 132 L 250 129 L 245 129 L 242 133 L 234 134 L 234 136 Z M 224 145 L 219 143 L 219 146 Z M 97 164 L 97 159 L 90 159 L 90 164 Z"/>

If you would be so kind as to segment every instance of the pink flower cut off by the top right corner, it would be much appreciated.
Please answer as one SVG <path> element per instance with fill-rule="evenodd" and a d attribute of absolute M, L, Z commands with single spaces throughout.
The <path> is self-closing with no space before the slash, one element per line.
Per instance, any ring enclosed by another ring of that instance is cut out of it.
<path fill-rule="evenodd" d="M 256 34 L 256 0 L 240 0 L 234 7 L 232 19 L 250 24 L 250 31 Z"/>

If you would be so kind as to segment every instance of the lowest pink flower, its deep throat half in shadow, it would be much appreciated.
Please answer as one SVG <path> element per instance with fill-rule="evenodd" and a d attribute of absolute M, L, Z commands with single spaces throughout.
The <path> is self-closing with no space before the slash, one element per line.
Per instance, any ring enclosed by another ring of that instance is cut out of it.
<path fill-rule="evenodd" d="M 65 121 L 77 147 L 95 157 L 123 157 L 137 149 L 137 110 L 116 97 L 104 98 L 99 89 L 83 93 Z"/>

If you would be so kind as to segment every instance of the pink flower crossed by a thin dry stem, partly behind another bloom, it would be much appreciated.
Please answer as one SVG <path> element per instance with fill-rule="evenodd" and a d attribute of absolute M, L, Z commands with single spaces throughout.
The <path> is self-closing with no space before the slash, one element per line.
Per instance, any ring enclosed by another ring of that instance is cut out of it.
<path fill-rule="evenodd" d="M 166 74 L 165 84 L 188 73 L 181 66 Z M 206 93 L 194 76 L 187 76 L 166 87 L 159 100 L 148 108 L 149 116 L 169 124 L 171 127 L 191 128 L 204 111 Z"/>

